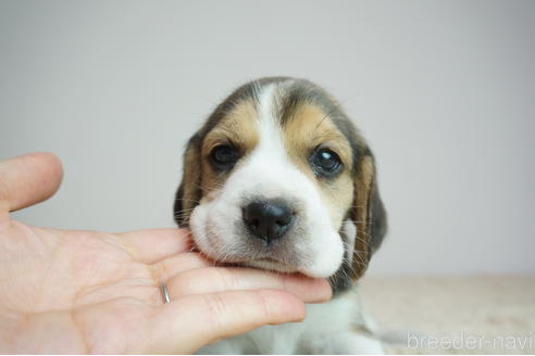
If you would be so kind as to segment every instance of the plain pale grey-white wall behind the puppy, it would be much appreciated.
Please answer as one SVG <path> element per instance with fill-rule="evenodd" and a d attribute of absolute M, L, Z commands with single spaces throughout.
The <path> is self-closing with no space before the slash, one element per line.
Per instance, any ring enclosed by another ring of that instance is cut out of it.
<path fill-rule="evenodd" d="M 0 158 L 64 163 L 37 226 L 173 226 L 187 138 L 244 81 L 310 78 L 380 165 L 372 274 L 535 272 L 535 2 L 0 1 Z"/>

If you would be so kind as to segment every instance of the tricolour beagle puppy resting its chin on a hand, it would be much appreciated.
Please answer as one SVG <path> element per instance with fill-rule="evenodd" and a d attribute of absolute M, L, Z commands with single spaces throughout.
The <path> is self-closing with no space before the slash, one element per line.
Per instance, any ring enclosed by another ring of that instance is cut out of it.
<path fill-rule="evenodd" d="M 336 100 L 288 77 L 250 81 L 187 144 L 174 216 L 220 263 L 327 278 L 332 301 L 201 354 L 382 353 L 358 279 L 386 232 L 370 148 Z"/>

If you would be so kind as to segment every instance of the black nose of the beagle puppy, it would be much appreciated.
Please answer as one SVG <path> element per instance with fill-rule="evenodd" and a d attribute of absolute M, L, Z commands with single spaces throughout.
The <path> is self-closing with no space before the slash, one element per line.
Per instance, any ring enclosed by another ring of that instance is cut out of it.
<path fill-rule="evenodd" d="M 283 237 L 294 223 L 294 212 L 276 201 L 253 202 L 244 207 L 244 221 L 257 238 L 270 243 Z"/>

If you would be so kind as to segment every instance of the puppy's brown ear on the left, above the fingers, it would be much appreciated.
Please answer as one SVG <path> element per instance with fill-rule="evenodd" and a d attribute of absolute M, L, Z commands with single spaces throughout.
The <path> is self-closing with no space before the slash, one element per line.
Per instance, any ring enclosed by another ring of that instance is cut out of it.
<path fill-rule="evenodd" d="M 199 135 L 189 139 L 184 152 L 182 182 L 175 195 L 174 217 L 181 228 L 189 226 L 189 216 L 201 199 L 201 160 Z"/>

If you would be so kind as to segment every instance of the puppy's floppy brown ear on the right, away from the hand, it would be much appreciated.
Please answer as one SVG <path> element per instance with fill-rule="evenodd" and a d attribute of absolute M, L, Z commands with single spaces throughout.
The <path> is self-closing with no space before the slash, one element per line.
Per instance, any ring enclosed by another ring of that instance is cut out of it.
<path fill-rule="evenodd" d="M 387 230 L 386 212 L 377 189 L 374 158 L 369 153 L 359 161 L 351 212 L 351 219 L 357 227 L 352 256 L 354 279 L 364 274 L 370 258 L 380 247 Z"/>

